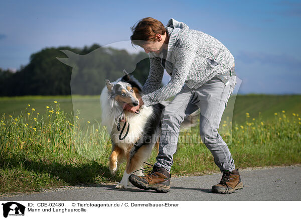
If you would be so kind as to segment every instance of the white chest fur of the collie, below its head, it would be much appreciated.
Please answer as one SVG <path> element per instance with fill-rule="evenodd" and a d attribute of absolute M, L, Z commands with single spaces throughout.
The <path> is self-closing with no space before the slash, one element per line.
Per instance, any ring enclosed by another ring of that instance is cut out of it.
<path fill-rule="evenodd" d="M 143 136 L 143 130 L 144 126 L 147 123 L 147 119 L 153 114 L 153 107 L 144 106 L 139 114 L 133 114 L 133 113 L 125 113 L 127 123 L 129 124 L 129 130 L 127 136 L 124 137 L 127 131 L 127 124 L 124 127 L 124 130 L 122 131 L 122 128 L 124 126 L 124 123 L 120 123 L 120 130 L 117 130 L 117 126 L 114 125 L 112 134 L 114 138 L 115 144 L 117 144 L 120 148 L 125 149 L 126 145 L 132 144 L 133 142 L 136 142 L 141 136 Z M 121 133 L 122 131 L 122 133 Z M 121 133 L 121 136 L 120 136 Z M 119 139 L 120 136 L 120 139 Z"/>

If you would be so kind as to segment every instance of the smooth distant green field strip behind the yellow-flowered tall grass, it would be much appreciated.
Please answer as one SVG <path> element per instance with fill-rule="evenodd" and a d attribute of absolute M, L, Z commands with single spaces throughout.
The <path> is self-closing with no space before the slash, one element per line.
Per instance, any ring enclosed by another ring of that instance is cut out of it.
<path fill-rule="evenodd" d="M 230 97 L 231 102 L 233 97 Z M 45 106 L 51 105 L 54 100 L 60 102 L 62 110 L 73 115 L 76 108 L 81 110 L 82 117 L 92 121 L 100 121 L 99 96 L 21 96 L 21 97 L 0 97 L 0 115 L 18 116 L 21 110 L 25 110 L 27 104 L 35 107 L 36 112 L 44 113 Z M 74 102 L 74 108 L 72 101 Z M 232 100 L 233 102 L 233 100 Z M 292 113 L 301 112 L 301 95 L 265 95 L 249 94 L 237 95 L 233 111 L 233 123 L 245 122 L 245 113 L 251 118 L 257 118 L 259 113 L 262 120 L 273 119 L 275 112 L 284 110 L 289 117 Z M 225 112 L 231 115 L 231 111 Z"/>

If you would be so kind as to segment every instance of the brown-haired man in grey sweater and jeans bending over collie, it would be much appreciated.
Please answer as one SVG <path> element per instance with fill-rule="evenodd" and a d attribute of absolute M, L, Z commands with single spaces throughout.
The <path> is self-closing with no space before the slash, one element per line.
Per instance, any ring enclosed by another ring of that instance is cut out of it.
<path fill-rule="evenodd" d="M 144 18 L 132 27 L 132 44 L 149 54 L 150 69 L 143 85 L 139 105 L 125 106 L 136 112 L 143 104 L 156 104 L 171 96 L 162 116 L 159 154 L 153 170 L 141 177 L 131 174 L 129 181 L 142 189 L 158 192 L 170 190 L 170 170 L 177 149 L 180 125 L 200 108 L 200 135 L 223 172 L 214 193 L 231 193 L 243 187 L 227 144 L 218 128 L 227 101 L 236 84 L 234 58 L 217 39 L 203 32 L 190 30 L 183 22 L 170 19 L 164 26 L 153 18 Z M 171 80 L 160 88 L 164 68 Z"/>

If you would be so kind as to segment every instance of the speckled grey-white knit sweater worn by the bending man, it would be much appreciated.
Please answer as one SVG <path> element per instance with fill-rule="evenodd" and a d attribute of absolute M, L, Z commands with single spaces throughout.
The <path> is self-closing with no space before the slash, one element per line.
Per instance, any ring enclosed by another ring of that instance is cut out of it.
<path fill-rule="evenodd" d="M 149 53 L 150 69 L 143 85 L 146 106 L 163 101 L 182 89 L 184 83 L 196 88 L 217 74 L 231 69 L 234 57 L 217 39 L 201 31 L 190 30 L 183 22 L 170 19 L 165 29 L 169 35 L 167 55 Z M 164 68 L 171 80 L 160 87 Z"/>

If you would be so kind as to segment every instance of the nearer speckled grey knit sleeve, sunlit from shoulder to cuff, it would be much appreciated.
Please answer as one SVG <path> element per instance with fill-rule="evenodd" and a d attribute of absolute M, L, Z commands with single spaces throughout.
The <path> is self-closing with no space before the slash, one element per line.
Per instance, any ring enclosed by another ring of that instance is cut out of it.
<path fill-rule="evenodd" d="M 141 96 L 146 106 L 154 105 L 180 92 L 194 60 L 196 48 L 192 42 L 186 41 L 174 49 L 176 62 L 173 64 L 171 80 L 160 89 Z"/>

